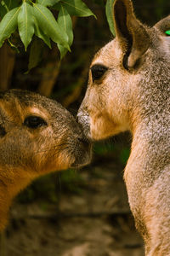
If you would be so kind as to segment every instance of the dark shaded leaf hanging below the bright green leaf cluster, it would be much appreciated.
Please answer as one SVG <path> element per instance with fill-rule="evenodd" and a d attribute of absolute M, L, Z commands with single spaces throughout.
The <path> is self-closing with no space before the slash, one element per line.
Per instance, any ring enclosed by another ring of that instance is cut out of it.
<path fill-rule="evenodd" d="M 31 43 L 27 73 L 29 73 L 33 67 L 37 67 L 38 63 L 42 60 L 43 47 L 44 47 L 44 44 L 40 42 L 40 40 L 37 38 L 35 38 Z"/>

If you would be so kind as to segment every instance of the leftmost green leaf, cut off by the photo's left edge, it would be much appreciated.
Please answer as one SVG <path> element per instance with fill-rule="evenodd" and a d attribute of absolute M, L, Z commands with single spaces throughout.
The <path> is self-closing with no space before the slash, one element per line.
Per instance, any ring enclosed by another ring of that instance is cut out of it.
<path fill-rule="evenodd" d="M 20 7 L 10 10 L 6 15 L 4 15 L 3 20 L 0 22 L 0 47 L 6 38 L 17 28 L 17 18 L 20 11 Z"/>

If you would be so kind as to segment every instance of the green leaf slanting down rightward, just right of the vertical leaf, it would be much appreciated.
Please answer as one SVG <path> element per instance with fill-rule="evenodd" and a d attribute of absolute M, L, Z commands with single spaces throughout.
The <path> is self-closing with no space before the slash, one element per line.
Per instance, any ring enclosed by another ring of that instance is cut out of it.
<path fill-rule="evenodd" d="M 69 44 L 67 43 L 67 35 L 59 26 L 50 10 L 38 3 L 34 3 L 33 8 L 37 24 L 48 38 L 70 50 Z"/>

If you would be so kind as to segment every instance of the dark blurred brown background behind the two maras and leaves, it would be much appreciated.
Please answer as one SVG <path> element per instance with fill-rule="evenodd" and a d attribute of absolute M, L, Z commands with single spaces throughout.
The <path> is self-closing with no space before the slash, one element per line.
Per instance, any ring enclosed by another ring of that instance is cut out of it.
<path fill-rule="evenodd" d="M 20 42 L 20 53 L 3 44 L 0 90 L 37 91 L 76 115 L 86 91 L 90 61 L 112 39 L 105 1 L 84 3 L 97 20 L 72 17 L 74 42 L 62 61 L 57 47 L 53 44 L 48 49 L 41 40 L 38 49 L 35 44 L 27 52 Z M 139 20 L 150 26 L 170 13 L 169 0 L 135 0 L 133 4 Z M 38 50 L 37 67 L 27 73 L 29 56 Z M 144 255 L 123 183 L 130 143 L 128 133 L 95 143 L 90 166 L 41 177 L 21 192 L 12 207 L 3 255 Z"/>

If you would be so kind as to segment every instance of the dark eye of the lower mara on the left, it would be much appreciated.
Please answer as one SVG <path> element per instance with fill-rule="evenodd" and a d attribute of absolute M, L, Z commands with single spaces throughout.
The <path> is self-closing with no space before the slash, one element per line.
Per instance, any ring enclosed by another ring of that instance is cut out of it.
<path fill-rule="evenodd" d="M 41 117 L 35 116 L 35 115 L 30 115 L 30 116 L 26 117 L 26 119 L 24 121 L 24 125 L 26 125 L 29 128 L 36 129 L 38 127 L 41 127 L 43 125 L 48 125 L 48 124 Z"/>

